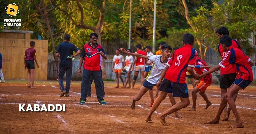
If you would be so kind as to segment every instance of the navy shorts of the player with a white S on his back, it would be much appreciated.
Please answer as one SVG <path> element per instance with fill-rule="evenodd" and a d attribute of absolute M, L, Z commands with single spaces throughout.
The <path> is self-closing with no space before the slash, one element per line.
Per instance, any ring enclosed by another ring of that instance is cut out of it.
<path fill-rule="evenodd" d="M 170 80 L 164 79 L 159 87 L 160 91 L 172 93 L 173 97 L 188 98 L 188 86 L 186 83 L 176 83 Z"/>

